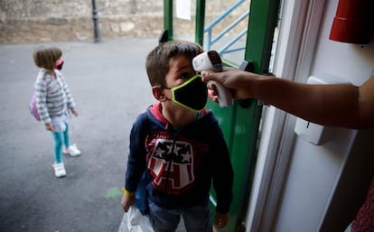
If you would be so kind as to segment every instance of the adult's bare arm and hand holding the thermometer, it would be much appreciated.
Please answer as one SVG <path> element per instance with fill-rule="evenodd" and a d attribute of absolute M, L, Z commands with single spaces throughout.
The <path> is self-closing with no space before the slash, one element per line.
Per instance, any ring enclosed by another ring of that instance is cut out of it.
<path fill-rule="evenodd" d="M 233 97 L 255 97 L 286 112 L 321 124 L 354 129 L 374 126 L 374 76 L 360 87 L 310 85 L 242 70 L 202 72 L 232 89 Z"/>

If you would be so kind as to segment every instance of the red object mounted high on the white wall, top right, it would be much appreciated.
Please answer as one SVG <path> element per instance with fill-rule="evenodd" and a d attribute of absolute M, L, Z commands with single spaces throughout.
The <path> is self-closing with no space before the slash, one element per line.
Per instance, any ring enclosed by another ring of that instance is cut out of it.
<path fill-rule="evenodd" d="M 332 23 L 330 40 L 365 44 L 374 29 L 373 0 L 340 0 Z"/>

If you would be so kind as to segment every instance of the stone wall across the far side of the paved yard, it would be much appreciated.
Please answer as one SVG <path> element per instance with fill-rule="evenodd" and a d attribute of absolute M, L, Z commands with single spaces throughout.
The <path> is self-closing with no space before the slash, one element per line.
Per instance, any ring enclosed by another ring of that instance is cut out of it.
<path fill-rule="evenodd" d="M 206 23 L 233 2 L 207 1 Z M 96 6 L 98 32 L 103 40 L 158 37 L 164 28 L 164 0 L 96 0 Z M 234 15 L 246 10 L 247 3 Z M 229 19 L 227 22 L 220 27 L 229 24 Z M 174 35 L 193 35 L 194 16 L 192 22 L 174 19 L 173 31 Z M 88 41 L 93 40 L 93 33 L 91 0 L 0 1 L 0 43 Z"/>

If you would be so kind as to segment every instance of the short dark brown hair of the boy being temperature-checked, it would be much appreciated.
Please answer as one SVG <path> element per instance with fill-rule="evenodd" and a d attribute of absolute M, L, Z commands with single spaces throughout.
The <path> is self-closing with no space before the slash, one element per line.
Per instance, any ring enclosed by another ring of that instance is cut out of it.
<path fill-rule="evenodd" d="M 195 56 L 203 51 L 202 47 L 194 42 L 171 41 L 160 43 L 146 57 L 145 70 L 148 74 L 149 83 L 151 86 L 161 85 L 165 87 L 166 73 L 169 71 L 169 62 L 173 57 L 183 55 L 192 61 Z"/>

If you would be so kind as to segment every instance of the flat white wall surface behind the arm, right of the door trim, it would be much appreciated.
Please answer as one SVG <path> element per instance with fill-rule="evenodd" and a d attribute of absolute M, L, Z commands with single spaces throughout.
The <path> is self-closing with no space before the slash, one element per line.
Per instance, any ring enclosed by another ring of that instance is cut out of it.
<path fill-rule="evenodd" d="M 360 85 L 369 79 L 374 69 L 374 42 L 361 46 L 330 41 L 337 5 L 337 0 L 326 1 L 310 76 L 329 73 Z M 332 141 L 321 146 L 295 137 L 274 231 L 319 230 L 346 160 L 353 153 L 351 147 L 355 138 L 356 131 L 347 129 L 338 129 Z"/>

